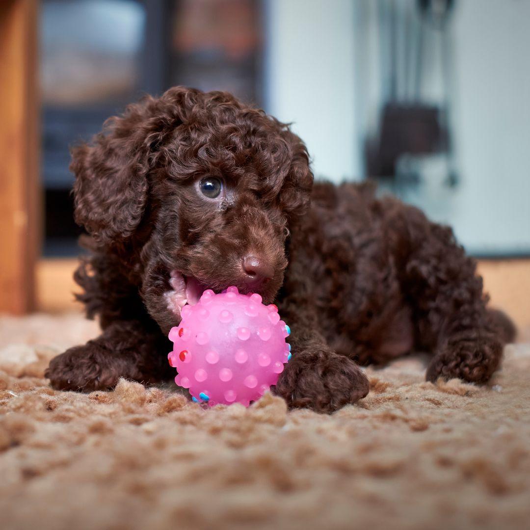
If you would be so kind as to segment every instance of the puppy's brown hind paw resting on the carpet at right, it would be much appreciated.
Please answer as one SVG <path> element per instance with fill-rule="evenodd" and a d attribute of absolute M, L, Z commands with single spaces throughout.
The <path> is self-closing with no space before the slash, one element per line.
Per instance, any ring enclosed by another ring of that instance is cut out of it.
<path fill-rule="evenodd" d="M 469 383 L 485 383 L 497 369 L 502 343 L 496 337 L 449 341 L 432 358 L 427 381 L 458 378 Z"/>

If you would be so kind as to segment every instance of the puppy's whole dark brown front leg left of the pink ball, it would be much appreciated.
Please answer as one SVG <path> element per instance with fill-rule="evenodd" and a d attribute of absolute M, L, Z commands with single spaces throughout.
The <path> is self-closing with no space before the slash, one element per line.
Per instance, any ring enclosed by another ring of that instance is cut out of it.
<path fill-rule="evenodd" d="M 91 392 L 112 388 L 120 377 L 148 383 L 169 378 L 165 349 L 171 344 L 160 331 L 141 322 L 115 321 L 101 336 L 51 360 L 46 377 L 58 390 Z"/>

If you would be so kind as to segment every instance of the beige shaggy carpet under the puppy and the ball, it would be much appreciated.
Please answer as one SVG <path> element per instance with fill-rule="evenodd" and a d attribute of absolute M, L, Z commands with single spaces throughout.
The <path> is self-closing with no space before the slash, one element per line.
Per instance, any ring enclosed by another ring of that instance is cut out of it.
<path fill-rule="evenodd" d="M 487 387 L 369 368 L 333 416 L 267 394 L 203 410 L 175 387 L 51 390 L 78 315 L 0 319 L 0 527 L 528 528 L 530 345 Z"/>

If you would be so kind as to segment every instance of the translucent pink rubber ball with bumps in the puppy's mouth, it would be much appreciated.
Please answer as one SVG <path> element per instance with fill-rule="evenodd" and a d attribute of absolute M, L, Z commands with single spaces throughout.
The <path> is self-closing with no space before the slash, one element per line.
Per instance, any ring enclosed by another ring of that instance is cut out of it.
<path fill-rule="evenodd" d="M 258 294 L 208 289 L 197 304 L 182 308 L 181 317 L 169 333 L 167 358 L 178 372 L 175 383 L 189 388 L 193 401 L 248 407 L 277 383 L 290 359 L 289 326 Z"/>

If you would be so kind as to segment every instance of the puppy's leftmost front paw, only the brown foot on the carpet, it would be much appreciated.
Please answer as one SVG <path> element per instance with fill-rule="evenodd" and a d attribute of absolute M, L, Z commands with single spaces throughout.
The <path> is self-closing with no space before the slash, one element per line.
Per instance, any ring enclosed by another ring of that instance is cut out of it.
<path fill-rule="evenodd" d="M 118 377 L 102 377 L 98 363 L 102 354 L 101 347 L 93 342 L 70 348 L 51 359 L 45 377 L 57 390 L 92 392 L 111 388 L 118 382 Z"/>

